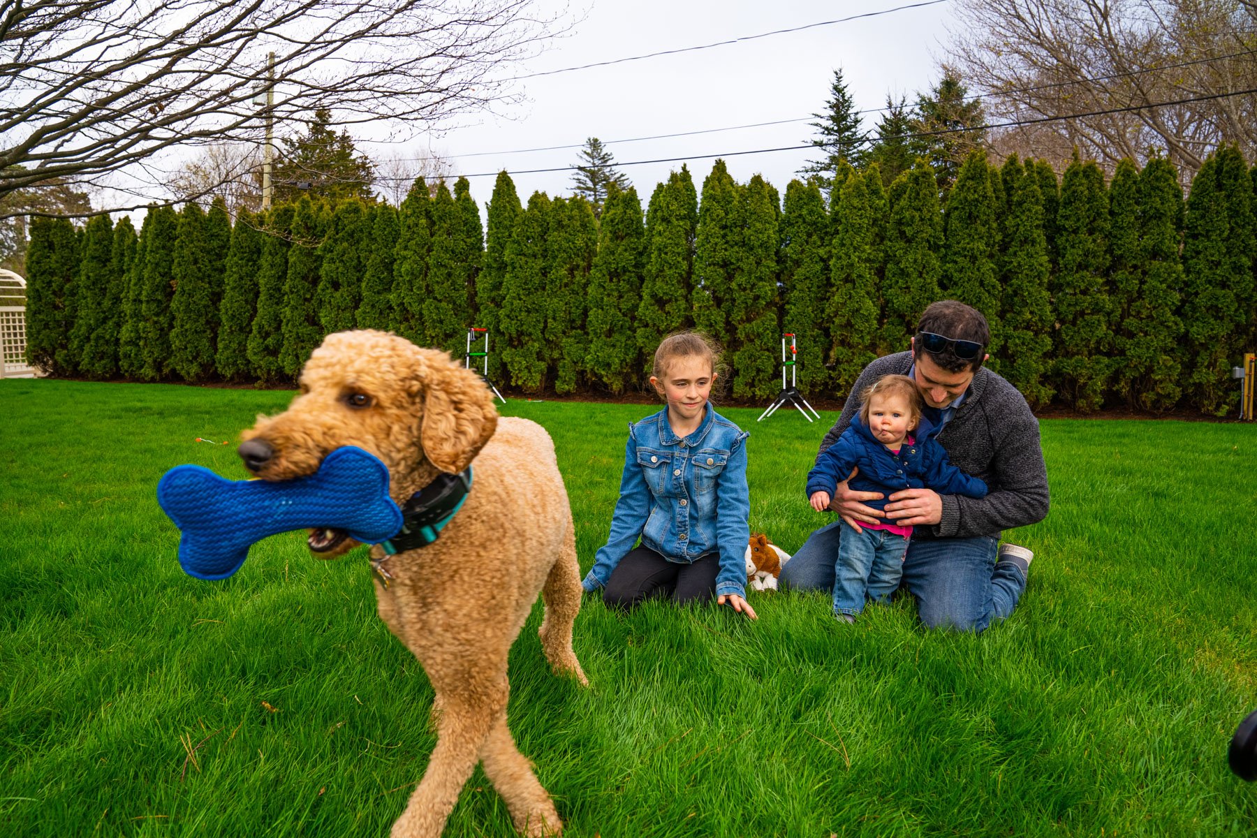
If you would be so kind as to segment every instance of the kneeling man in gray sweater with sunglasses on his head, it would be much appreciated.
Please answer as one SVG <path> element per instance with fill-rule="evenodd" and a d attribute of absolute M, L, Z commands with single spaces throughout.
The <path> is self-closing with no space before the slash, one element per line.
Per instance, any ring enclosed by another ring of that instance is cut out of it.
<path fill-rule="evenodd" d="M 925 400 L 925 413 L 948 457 L 991 486 L 985 498 L 939 495 L 905 489 L 890 495 L 885 514 L 864 504 L 877 492 L 838 484 L 830 509 L 841 520 L 807 539 L 782 568 L 793 588 L 833 587 L 833 563 L 846 526 L 894 519 L 913 526 L 901 585 L 916 598 L 921 622 L 935 628 L 980 632 L 1012 613 L 1026 590 L 1033 553 L 999 547 L 1001 530 L 1047 515 L 1047 470 L 1038 441 L 1038 420 L 1017 388 L 982 362 L 989 358 L 987 319 L 954 300 L 934 303 L 918 324 L 913 351 L 874 361 L 856 381 L 837 423 L 821 441 L 833 445 L 860 410 L 860 393 L 882 376 L 909 376 Z M 820 456 L 820 455 L 817 455 Z"/>

